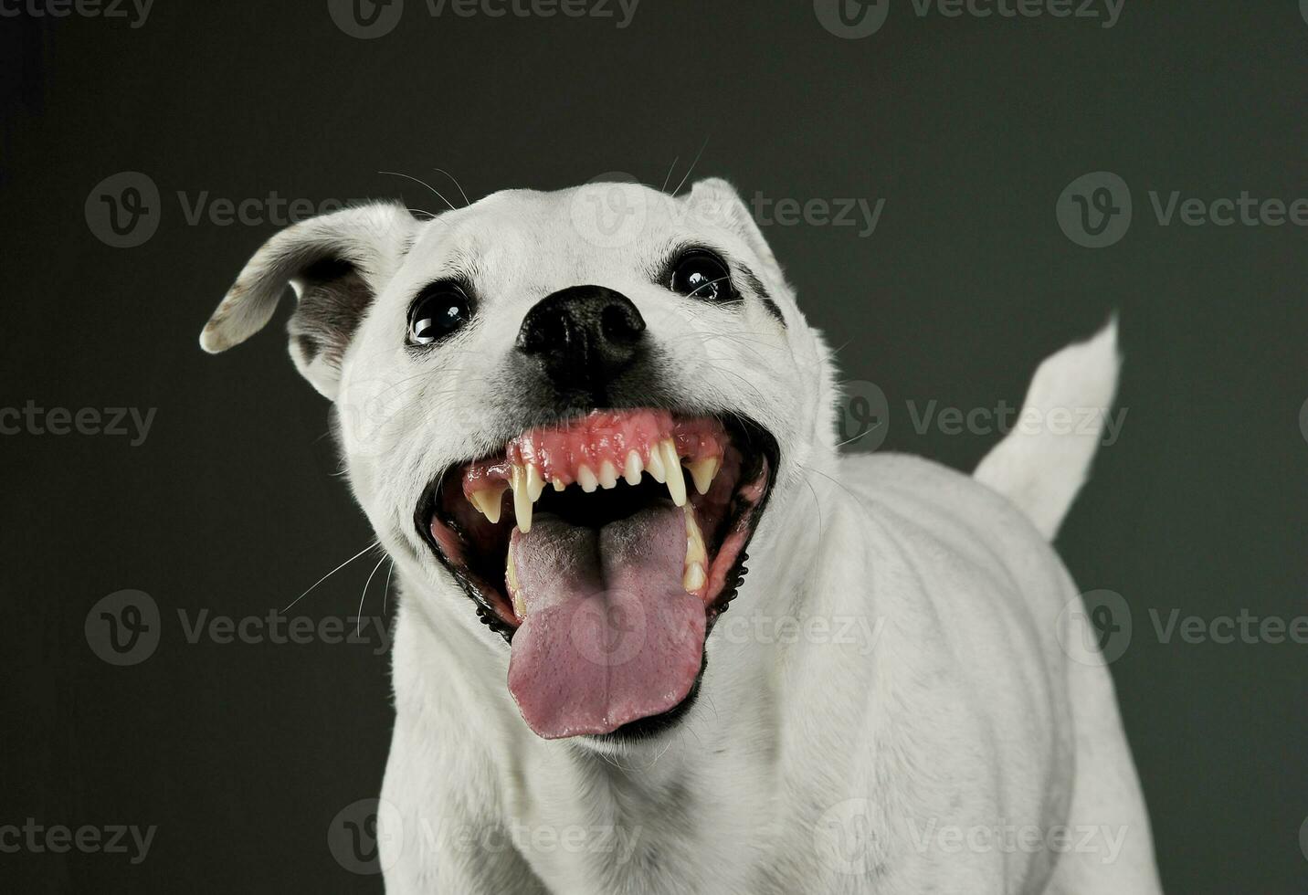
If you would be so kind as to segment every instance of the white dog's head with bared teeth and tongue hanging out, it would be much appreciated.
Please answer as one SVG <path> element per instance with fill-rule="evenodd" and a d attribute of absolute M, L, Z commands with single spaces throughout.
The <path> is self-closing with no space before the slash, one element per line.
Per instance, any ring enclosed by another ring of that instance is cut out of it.
<path fill-rule="evenodd" d="M 471 602 L 426 614 L 510 642 L 543 737 L 675 717 L 751 539 L 833 441 L 825 348 L 735 191 L 318 217 L 259 250 L 201 345 L 252 335 L 288 283 L 290 353 L 335 403 L 354 493 L 429 582 L 409 598 L 459 585 Z"/>

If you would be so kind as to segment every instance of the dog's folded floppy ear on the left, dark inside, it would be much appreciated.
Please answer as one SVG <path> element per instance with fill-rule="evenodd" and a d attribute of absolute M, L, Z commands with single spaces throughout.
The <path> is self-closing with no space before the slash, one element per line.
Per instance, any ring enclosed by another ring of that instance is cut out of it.
<path fill-rule="evenodd" d="M 377 203 L 281 230 L 246 263 L 200 332 L 200 347 L 217 353 L 252 336 L 290 285 L 290 356 L 318 391 L 335 398 L 354 328 L 399 270 L 416 228 L 402 205 Z"/>

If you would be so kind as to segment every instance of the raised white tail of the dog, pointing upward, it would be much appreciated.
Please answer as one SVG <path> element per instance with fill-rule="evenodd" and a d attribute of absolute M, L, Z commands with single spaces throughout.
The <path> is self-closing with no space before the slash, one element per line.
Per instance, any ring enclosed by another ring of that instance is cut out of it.
<path fill-rule="evenodd" d="M 1044 360 L 1012 430 L 973 474 L 1053 539 L 1080 491 L 1117 390 L 1117 318 Z"/>

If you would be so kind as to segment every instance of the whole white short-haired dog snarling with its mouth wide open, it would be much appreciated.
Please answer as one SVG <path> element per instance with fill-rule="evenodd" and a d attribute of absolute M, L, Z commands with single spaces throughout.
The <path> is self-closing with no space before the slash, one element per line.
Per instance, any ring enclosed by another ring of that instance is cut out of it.
<path fill-rule="evenodd" d="M 831 353 L 722 181 L 305 221 L 201 345 L 288 283 L 403 591 L 390 891 L 1159 891 L 1108 670 L 1059 646 L 1097 428 L 972 478 L 838 455 Z M 1109 327 L 1027 404 L 1116 378 Z"/>

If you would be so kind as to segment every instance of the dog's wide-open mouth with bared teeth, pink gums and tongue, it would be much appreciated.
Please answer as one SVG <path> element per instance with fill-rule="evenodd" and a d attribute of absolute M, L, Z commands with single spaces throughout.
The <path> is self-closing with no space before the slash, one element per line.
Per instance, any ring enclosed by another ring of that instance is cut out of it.
<path fill-rule="evenodd" d="M 511 644 L 527 725 L 607 734 L 693 690 L 777 459 L 749 421 L 593 411 L 446 470 L 416 522 Z"/>

